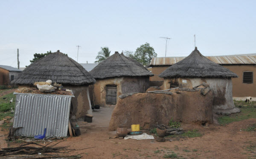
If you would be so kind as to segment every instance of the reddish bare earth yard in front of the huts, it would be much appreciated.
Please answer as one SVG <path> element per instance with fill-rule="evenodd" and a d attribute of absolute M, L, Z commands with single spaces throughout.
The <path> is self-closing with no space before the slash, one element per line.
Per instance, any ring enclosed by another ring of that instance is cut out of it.
<path fill-rule="evenodd" d="M 6 96 L 11 97 L 10 94 Z M 166 142 L 109 139 L 108 122 L 111 109 L 102 108 L 101 112 L 94 112 L 93 123 L 79 122 L 81 136 L 64 139 L 64 142 L 59 143 L 58 146 L 69 145 L 77 149 L 71 154 L 84 153 L 81 155 L 83 159 L 256 159 L 256 103 L 235 102 L 235 104 L 241 107 L 241 113 L 220 116 L 221 125 L 203 127 L 182 124 L 182 128 L 186 131 L 190 130 L 190 134 L 167 136 Z M 6 114 L 13 116 L 7 111 L 0 112 L 0 117 L 3 118 Z M 0 133 L 5 137 L 8 133 L 6 128 L 10 124 L 7 119 L 6 124 L 0 128 Z M 53 142 L 60 141 L 62 140 Z M 8 142 L 8 145 L 14 147 L 20 145 L 20 142 L 22 141 Z M 89 149 L 79 150 L 82 148 Z"/>

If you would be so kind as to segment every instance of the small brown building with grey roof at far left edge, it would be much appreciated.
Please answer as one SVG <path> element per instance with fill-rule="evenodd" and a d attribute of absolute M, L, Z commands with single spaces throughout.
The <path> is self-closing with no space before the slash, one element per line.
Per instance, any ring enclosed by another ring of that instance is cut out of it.
<path fill-rule="evenodd" d="M 20 69 L 0 65 L 0 85 L 10 85 L 10 82 L 16 79 L 20 73 Z"/>

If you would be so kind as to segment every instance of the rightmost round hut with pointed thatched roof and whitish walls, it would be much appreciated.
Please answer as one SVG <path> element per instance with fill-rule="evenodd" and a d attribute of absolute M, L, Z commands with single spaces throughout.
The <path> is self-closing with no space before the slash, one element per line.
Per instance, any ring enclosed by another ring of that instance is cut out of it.
<path fill-rule="evenodd" d="M 178 85 L 179 89 L 192 89 L 206 83 L 213 93 L 214 112 L 240 111 L 233 103 L 231 80 L 238 76 L 204 57 L 197 47 L 188 57 L 167 68 L 159 77 L 164 78 L 163 89 L 165 90 L 175 85 Z"/>

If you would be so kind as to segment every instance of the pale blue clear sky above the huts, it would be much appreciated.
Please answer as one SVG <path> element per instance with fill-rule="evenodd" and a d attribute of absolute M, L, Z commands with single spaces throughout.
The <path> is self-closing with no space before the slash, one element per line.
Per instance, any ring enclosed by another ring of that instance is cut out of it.
<path fill-rule="evenodd" d="M 255 0 L 1 0 L 0 65 L 29 65 L 35 53 L 60 50 L 93 63 L 101 47 L 157 57 L 256 53 Z"/>

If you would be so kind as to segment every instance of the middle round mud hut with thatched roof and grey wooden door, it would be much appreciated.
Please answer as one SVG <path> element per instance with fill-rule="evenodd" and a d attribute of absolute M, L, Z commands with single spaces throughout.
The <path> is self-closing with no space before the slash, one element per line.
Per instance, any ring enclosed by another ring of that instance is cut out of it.
<path fill-rule="evenodd" d="M 96 83 L 93 90 L 93 104 L 103 107 L 113 107 L 118 96 L 127 93 L 144 93 L 149 87 L 149 77 L 153 76 L 139 62 L 115 54 L 102 61 L 90 71 Z"/>

